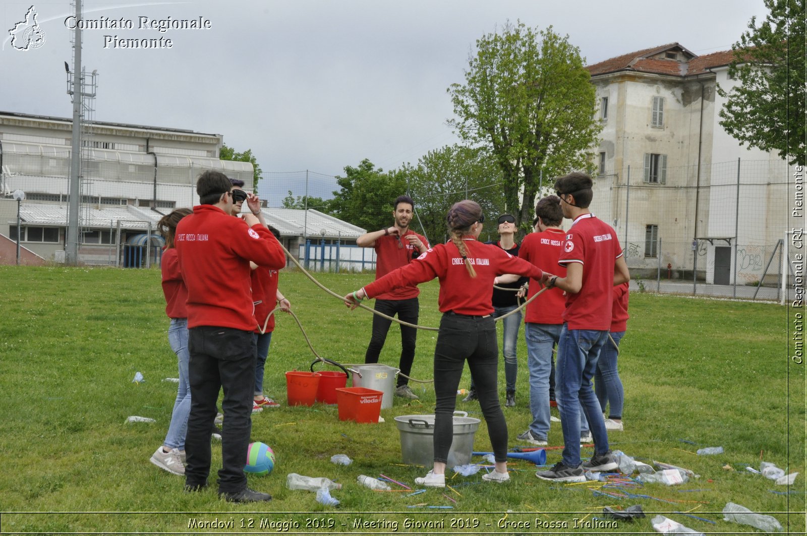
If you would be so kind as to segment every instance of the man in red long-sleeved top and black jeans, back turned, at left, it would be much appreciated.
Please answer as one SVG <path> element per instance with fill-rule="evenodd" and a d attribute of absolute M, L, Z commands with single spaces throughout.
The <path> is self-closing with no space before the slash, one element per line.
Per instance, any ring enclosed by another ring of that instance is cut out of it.
<path fill-rule="evenodd" d="M 177 226 L 174 243 L 188 289 L 190 417 L 185 441 L 185 488 L 207 486 L 215 404 L 224 388 L 219 495 L 226 500 L 271 500 L 247 488 L 244 474 L 255 383 L 256 348 L 249 261 L 280 269 L 286 257 L 256 216 L 230 216 L 232 184 L 218 171 L 199 176 L 199 205 Z"/>

